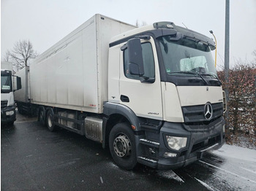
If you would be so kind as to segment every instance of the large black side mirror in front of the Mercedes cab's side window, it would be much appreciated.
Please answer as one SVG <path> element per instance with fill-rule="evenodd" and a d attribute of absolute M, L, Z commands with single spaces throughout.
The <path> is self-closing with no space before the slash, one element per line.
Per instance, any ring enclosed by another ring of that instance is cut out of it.
<path fill-rule="evenodd" d="M 140 39 L 129 39 L 127 42 L 127 51 L 130 74 L 143 76 L 144 66 Z"/>

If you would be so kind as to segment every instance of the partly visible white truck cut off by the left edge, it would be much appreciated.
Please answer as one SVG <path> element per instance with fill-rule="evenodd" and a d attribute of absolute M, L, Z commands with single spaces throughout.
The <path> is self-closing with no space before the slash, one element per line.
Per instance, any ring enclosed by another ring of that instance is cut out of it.
<path fill-rule="evenodd" d="M 20 77 L 12 75 L 12 63 L 1 62 L 1 123 L 12 125 L 16 120 L 15 90 L 21 88 Z"/>

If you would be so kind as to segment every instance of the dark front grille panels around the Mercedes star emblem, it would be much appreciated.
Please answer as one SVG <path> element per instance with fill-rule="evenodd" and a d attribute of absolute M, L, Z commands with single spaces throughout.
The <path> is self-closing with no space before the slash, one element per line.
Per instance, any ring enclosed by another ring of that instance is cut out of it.
<path fill-rule="evenodd" d="M 205 105 L 199 105 L 199 106 L 183 106 L 182 112 L 184 114 L 184 121 L 185 123 L 192 125 L 192 123 L 195 123 L 195 125 L 199 125 L 199 123 L 202 122 L 213 122 L 223 114 L 223 104 L 217 103 L 217 104 L 211 104 L 213 109 L 213 116 L 211 117 L 211 121 L 206 120 L 206 117 L 204 115 L 204 108 Z"/>

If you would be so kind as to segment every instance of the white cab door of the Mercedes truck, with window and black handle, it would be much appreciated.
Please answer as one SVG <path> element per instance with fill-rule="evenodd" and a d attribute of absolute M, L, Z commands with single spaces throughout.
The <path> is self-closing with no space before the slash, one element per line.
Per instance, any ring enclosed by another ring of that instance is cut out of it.
<path fill-rule="evenodd" d="M 120 104 L 128 106 L 139 117 L 162 120 L 162 91 L 154 39 L 141 39 L 140 44 L 143 77 L 131 74 L 128 50 L 120 51 Z"/>

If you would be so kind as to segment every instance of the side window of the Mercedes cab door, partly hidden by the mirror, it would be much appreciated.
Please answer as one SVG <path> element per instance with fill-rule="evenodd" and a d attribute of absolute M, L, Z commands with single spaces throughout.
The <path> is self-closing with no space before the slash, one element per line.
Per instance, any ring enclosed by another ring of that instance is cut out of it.
<path fill-rule="evenodd" d="M 143 54 L 144 77 L 154 78 L 154 56 L 151 43 L 141 44 Z M 140 79 L 129 73 L 128 51 L 124 50 L 124 75 L 129 79 Z"/>

